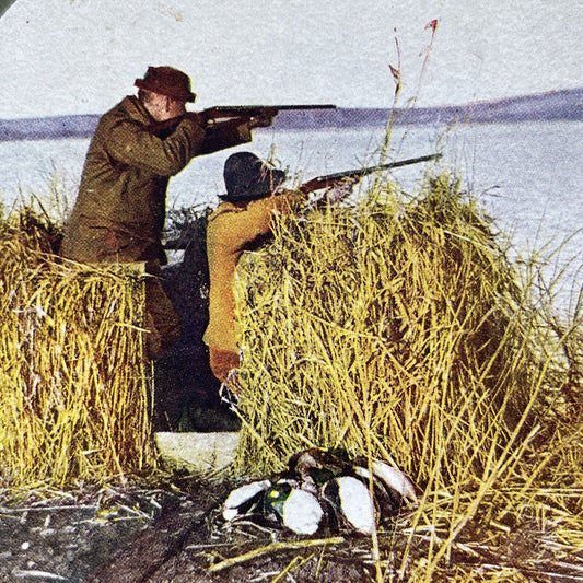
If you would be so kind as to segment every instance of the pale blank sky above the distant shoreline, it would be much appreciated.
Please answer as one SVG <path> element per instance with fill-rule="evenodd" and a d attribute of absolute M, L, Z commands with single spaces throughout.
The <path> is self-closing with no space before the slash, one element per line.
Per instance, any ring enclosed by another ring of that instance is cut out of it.
<path fill-rule="evenodd" d="M 438 20 L 435 35 L 427 24 Z M 463 105 L 583 86 L 583 0 L 16 0 L 0 118 L 101 114 L 149 65 L 234 104 Z"/>

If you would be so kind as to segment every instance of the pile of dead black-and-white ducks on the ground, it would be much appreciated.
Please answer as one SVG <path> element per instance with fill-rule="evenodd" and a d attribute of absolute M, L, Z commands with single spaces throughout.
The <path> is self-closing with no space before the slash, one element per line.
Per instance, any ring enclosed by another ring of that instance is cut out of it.
<path fill-rule="evenodd" d="M 298 535 L 373 534 L 381 524 L 415 509 L 417 488 L 381 459 L 350 459 L 343 450 L 311 448 L 292 455 L 288 469 L 231 491 L 225 521 L 254 521 Z"/>

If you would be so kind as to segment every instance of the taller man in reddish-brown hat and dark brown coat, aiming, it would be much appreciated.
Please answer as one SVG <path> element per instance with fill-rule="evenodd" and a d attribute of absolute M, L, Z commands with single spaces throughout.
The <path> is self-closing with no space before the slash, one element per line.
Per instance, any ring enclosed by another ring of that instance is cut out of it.
<path fill-rule="evenodd" d="M 141 263 L 147 278 L 148 355 L 156 358 L 178 337 L 179 318 L 160 283 L 167 263 L 162 245 L 166 188 L 196 155 L 250 141 L 266 120 L 234 120 L 220 133 L 202 115 L 188 75 L 149 67 L 128 95 L 101 118 L 91 141 L 81 185 L 61 244 L 61 255 L 88 264 Z"/>

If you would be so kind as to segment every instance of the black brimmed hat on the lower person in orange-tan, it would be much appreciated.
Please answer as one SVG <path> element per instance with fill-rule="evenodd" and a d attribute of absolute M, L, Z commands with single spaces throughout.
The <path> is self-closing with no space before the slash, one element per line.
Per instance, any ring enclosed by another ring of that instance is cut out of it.
<path fill-rule="evenodd" d="M 230 202 L 268 197 L 285 179 L 282 170 L 271 168 L 252 152 L 230 155 L 223 176 L 226 195 L 220 198 Z"/>

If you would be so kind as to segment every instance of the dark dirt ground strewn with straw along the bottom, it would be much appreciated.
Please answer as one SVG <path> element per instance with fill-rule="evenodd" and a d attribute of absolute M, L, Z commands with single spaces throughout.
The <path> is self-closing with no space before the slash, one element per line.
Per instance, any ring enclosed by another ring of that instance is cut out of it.
<path fill-rule="evenodd" d="M 180 477 L 159 489 L 36 492 L 16 503 L 0 492 L 0 582 L 375 581 L 370 537 L 326 530 L 299 537 L 266 523 L 225 523 L 221 504 L 237 485 Z M 581 581 L 583 553 L 558 560 L 545 536 L 535 524 L 524 524 L 497 545 L 454 545 L 448 564 L 431 581 Z M 423 537 L 407 551 L 406 545 L 395 525 L 378 532 L 383 581 L 415 582 L 412 565 L 431 552 Z M 404 553 L 408 563 L 398 572 Z"/>

